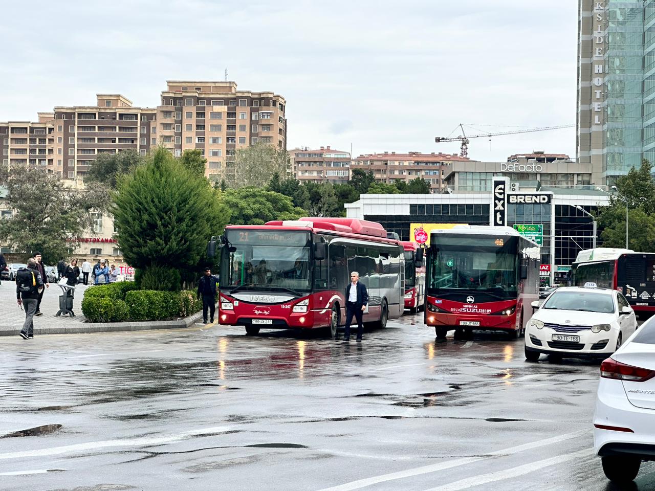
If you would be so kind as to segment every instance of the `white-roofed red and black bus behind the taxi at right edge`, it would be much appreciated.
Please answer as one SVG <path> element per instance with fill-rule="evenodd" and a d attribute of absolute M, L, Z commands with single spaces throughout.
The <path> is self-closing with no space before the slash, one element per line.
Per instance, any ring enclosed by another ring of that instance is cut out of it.
<path fill-rule="evenodd" d="M 571 282 L 618 290 L 636 314 L 655 312 L 654 253 L 606 247 L 580 251 L 571 265 Z"/>

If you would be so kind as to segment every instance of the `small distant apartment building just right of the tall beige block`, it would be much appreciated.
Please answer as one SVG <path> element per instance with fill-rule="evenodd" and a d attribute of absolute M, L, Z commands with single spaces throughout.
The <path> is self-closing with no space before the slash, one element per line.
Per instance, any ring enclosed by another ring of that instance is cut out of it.
<path fill-rule="evenodd" d="M 289 151 L 291 169 L 301 183 L 345 184 L 350 180 L 350 152 L 331 149 Z"/>

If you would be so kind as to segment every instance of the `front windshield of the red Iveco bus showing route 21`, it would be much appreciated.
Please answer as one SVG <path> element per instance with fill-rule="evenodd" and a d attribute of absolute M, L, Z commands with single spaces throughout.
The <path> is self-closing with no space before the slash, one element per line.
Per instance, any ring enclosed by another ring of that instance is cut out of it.
<path fill-rule="evenodd" d="M 225 236 L 221 287 L 310 291 L 308 232 L 226 230 Z"/>

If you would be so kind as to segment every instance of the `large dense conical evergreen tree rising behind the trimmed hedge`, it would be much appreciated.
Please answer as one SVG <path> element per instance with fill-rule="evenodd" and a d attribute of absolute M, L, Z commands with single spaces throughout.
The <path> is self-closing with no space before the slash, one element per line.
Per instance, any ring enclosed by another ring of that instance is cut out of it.
<path fill-rule="evenodd" d="M 125 261 L 143 276 L 149 268 L 168 268 L 187 278 L 204 259 L 209 238 L 229 222 L 219 195 L 168 150 L 156 149 L 118 181 L 112 211 Z"/>

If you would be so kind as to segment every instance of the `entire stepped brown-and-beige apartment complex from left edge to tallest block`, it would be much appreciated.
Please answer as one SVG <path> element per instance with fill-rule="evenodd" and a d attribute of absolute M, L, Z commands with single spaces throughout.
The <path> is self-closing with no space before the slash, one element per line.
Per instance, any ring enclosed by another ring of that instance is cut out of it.
<path fill-rule="evenodd" d="M 101 153 L 145 155 L 163 145 L 179 156 L 199 149 L 206 175 L 234 172 L 237 149 L 257 142 L 286 149 L 286 100 L 273 92 L 236 90 L 235 82 L 168 81 L 161 105 L 134 107 L 121 94 L 97 94 L 95 105 L 56 106 L 38 122 L 0 122 L 3 164 L 44 166 L 81 179 Z"/>

